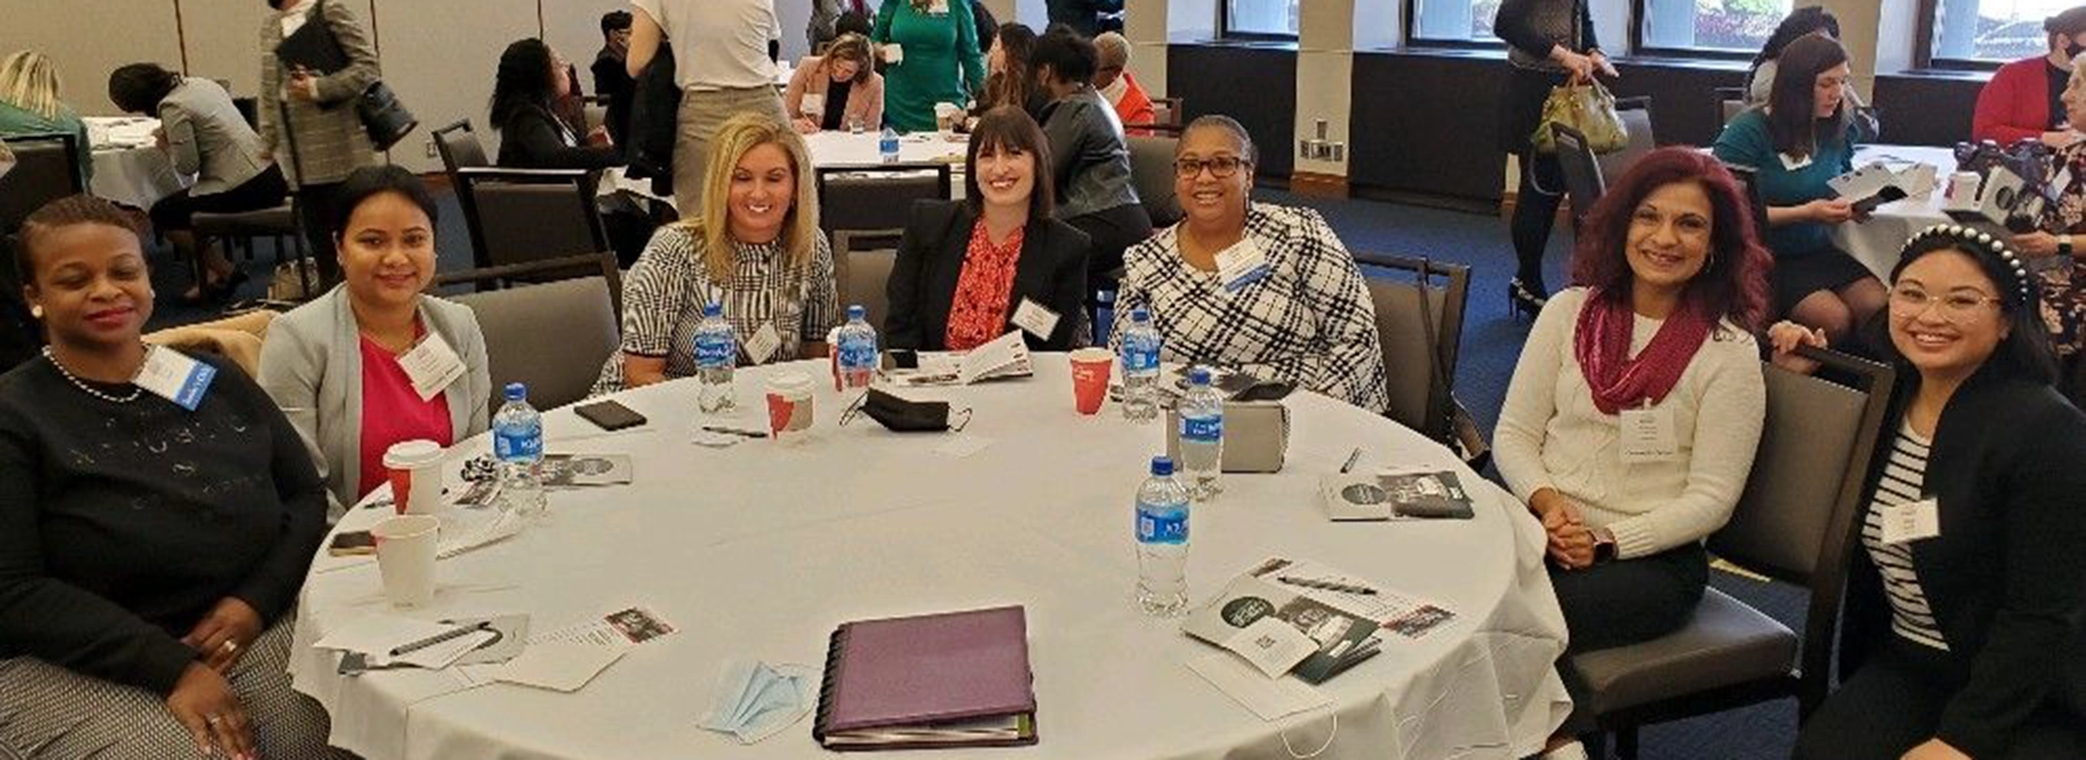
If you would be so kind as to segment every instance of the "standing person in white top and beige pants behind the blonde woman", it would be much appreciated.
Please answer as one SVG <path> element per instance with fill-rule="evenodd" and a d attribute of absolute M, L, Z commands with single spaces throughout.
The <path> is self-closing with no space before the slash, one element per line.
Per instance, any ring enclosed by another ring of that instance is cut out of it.
<path fill-rule="evenodd" d="M 680 85 L 680 135 L 674 142 L 674 206 L 682 217 L 703 210 L 703 164 L 709 137 L 738 112 L 780 123 L 782 94 L 768 42 L 780 31 L 774 0 L 632 0 L 630 54 L 624 71 L 645 71 L 659 44 L 674 50 Z"/>

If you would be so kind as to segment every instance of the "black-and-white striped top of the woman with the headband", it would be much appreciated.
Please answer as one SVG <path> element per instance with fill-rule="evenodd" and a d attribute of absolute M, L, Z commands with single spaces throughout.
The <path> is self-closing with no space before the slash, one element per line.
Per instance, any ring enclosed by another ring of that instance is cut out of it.
<path fill-rule="evenodd" d="M 1919 589 L 1919 568 L 1913 566 L 1911 543 L 1884 543 L 1884 508 L 1919 502 L 1921 483 L 1927 477 L 1927 448 L 1907 425 L 1898 431 L 1884 462 L 1884 477 L 1875 483 L 1875 498 L 1861 523 L 1861 543 L 1875 560 L 1875 571 L 1884 577 L 1884 596 L 1890 600 L 1890 629 L 1913 643 L 1948 652 L 1948 641 L 1934 625 L 1934 610 L 1927 608 L 1927 593 Z"/>

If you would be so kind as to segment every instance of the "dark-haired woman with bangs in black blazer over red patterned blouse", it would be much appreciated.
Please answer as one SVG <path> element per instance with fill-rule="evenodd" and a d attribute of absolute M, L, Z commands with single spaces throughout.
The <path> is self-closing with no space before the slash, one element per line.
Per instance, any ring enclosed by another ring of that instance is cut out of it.
<path fill-rule="evenodd" d="M 1087 344 L 1087 233 L 1051 219 L 1049 144 L 1022 108 L 987 110 L 964 202 L 914 204 L 884 285 L 891 348 L 970 350 L 1020 329 L 1030 350 Z"/>

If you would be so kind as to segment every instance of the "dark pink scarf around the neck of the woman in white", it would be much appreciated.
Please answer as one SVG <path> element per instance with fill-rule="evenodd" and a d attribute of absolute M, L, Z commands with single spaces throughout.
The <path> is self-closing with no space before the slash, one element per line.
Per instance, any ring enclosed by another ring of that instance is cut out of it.
<path fill-rule="evenodd" d="M 1594 406 L 1602 414 L 1665 400 L 1708 339 L 1711 319 L 1683 302 L 1665 325 L 1658 325 L 1658 335 L 1652 335 L 1644 352 L 1629 358 L 1629 333 L 1638 314 L 1625 300 L 1596 289 L 1587 294 L 1585 306 L 1579 306 L 1573 356 L 1579 358 L 1579 373 L 1594 389 Z"/>

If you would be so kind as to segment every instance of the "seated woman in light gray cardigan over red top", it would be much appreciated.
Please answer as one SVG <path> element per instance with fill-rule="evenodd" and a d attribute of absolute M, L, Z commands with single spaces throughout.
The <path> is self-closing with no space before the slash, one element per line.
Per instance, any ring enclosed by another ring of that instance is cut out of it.
<path fill-rule="evenodd" d="M 334 237 L 344 281 L 269 325 L 261 387 L 305 437 L 332 516 L 384 483 L 384 450 L 486 431 L 486 337 L 467 306 L 426 296 L 434 198 L 398 167 L 357 169 Z"/>

